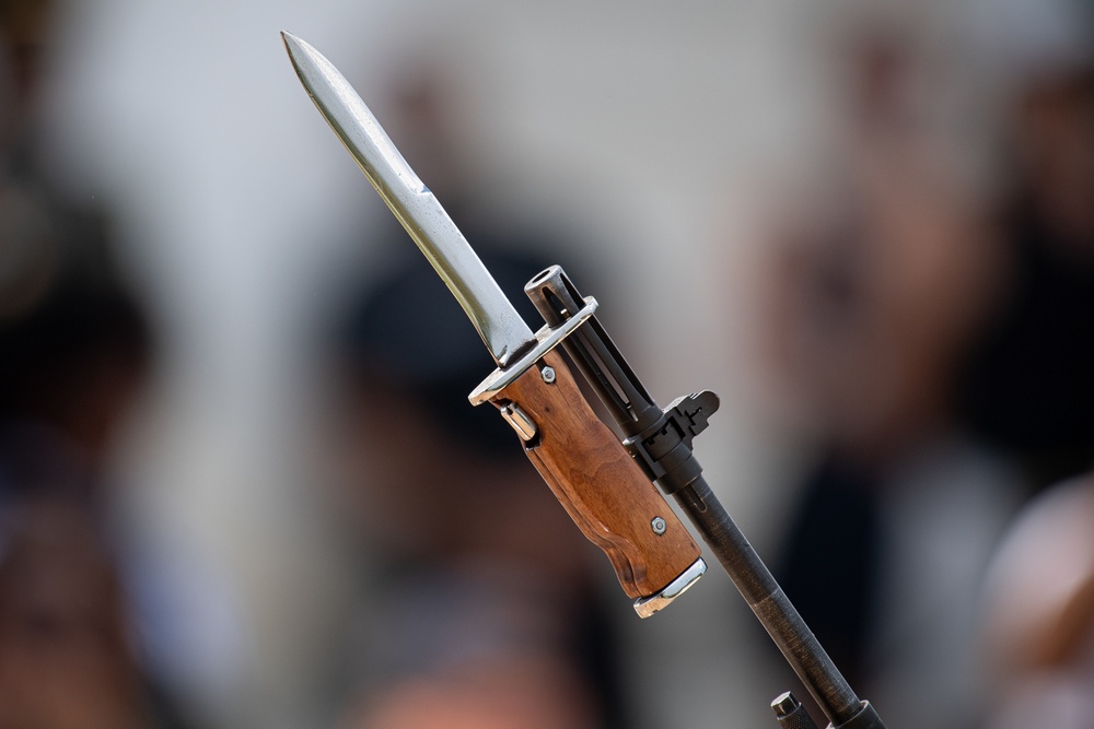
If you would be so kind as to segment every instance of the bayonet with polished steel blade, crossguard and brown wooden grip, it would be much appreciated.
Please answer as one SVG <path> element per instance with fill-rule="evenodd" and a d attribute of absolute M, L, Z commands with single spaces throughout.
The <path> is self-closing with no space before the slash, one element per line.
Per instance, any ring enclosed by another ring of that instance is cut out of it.
<path fill-rule="evenodd" d="M 533 333 L 338 69 L 292 34 L 282 37 L 315 106 L 447 284 L 493 356 L 498 368 L 472 392 L 472 402 L 493 403 L 513 426 L 562 506 L 607 554 L 639 614 L 661 610 L 707 567 L 687 529 L 596 418 L 554 352 L 592 317 L 596 301 L 583 298 L 558 326 Z"/>

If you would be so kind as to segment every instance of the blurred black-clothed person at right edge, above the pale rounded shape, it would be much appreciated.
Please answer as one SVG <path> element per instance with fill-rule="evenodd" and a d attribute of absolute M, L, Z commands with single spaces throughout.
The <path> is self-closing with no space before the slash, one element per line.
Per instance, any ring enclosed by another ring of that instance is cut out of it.
<path fill-rule="evenodd" d="M 965 368 L 962 414 L 1044 487 L 1094 460 L 1094 52 L 1024 79 L 1010 108 L 1006 294 Z"/>

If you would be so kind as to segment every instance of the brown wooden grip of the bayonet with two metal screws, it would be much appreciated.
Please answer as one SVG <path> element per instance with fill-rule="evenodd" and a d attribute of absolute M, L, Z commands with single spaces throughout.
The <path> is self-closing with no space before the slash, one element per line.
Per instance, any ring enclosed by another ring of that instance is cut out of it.
<path fill-rule="evenodd" d="M 555 371 L 547 383 L 540 367 Z M 700 552 L 668 503 L 596 416 L 557 352 L 529 367 L 492 402 L 517 405 L 536 426 L 525 451 L 555 496 L 604 550 L 631 598 L 660 592 Z M 663 533 L 660 521 L 664 521 Z"/>

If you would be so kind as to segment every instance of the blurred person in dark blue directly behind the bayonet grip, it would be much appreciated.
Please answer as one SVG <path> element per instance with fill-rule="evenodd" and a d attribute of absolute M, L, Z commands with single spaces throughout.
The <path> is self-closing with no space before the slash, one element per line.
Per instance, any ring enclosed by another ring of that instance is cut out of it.
<path fill-rule="evenodd" d="M 388 129 L 535 329 L 524 284 L 560 261 L 516 251 L 555 256 L 558 245 L 477 214 L 450 73 L 417 61 L 398 80 Z M 368 245 L 397 263 L 349 297 L 339 337 L 347 510 L 379 562 L 341 726 L 624 727 L 598 600 L 607 561 L 496 409 L 467 401 L 490 356 L 409 236 L 386 211 L 382 221 Z"/>

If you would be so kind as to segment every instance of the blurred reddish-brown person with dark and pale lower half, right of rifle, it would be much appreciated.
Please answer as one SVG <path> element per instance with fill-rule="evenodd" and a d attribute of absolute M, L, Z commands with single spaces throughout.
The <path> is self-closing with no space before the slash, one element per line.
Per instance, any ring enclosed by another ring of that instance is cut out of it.
<path fill-rule="evenodd" d="M 956 414 L 993 232 L 915 38 L 866 26 L 845 52 L 846 138 L 772 289 L 770 362 L 816 448 L 776 576 L 889 726 L 970 727 L 976 596 L 1015 485 Z"/>

